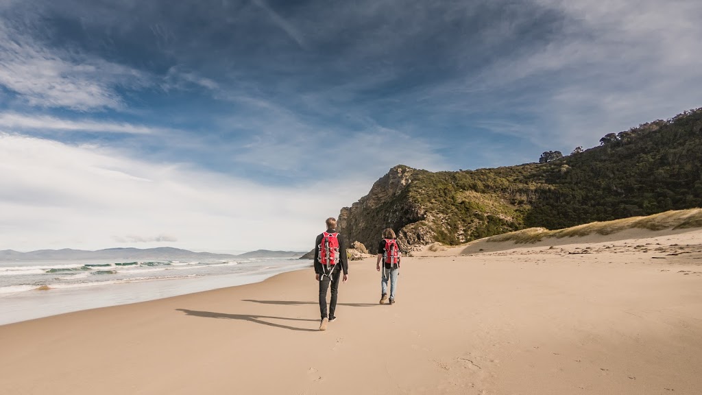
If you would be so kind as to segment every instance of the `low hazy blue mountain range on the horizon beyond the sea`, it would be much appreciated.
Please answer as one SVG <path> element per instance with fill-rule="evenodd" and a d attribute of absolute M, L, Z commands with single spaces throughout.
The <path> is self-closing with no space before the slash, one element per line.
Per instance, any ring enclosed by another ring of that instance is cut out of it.
<path fill-rule="evenodd" d="M 114 259 L 114 260 L 154 260 L 172 261 L 178 259 L 251 259 L 251 258 L 298 258 L 305 252 L 256 250 L 244 254 L 213 254 L 211 252 L 192 252 L 173 247 L 158 248 L 108 248 L 107 250 L 86 251 L 72 250 L 37 250 L 18 252 L 0 250 L 0 261 L 55 261 L 71 259 Z"/>

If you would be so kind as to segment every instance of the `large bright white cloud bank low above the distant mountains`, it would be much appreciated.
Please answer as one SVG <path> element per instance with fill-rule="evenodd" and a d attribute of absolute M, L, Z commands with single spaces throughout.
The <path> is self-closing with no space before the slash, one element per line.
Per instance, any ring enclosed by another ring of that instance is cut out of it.
<path fill-rule="evenodd" d="M 171 245 L 189 249 L 305 250 L 326 217 L 369 188 L 350 177 L 262 186 L 105 148 L 1 134 L 0 157 L 0 249 L 95 249 L 110 247 L 114 235 L 162 245 L 165 238 L 149 235 L 169 235 L 178 239 Z"/>

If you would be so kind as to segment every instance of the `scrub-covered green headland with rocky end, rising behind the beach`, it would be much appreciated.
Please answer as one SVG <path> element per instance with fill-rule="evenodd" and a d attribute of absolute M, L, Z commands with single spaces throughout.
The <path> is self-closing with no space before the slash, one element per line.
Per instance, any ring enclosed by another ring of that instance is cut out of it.
<path fill-rule="evenodd" d="M 449 245 L 523 228 L 702 207 L 702 109 L 545 163 L 430 172 L 403 165 L 341 210 L 340 228 L 374 250 L 390 226 L 407 246 Z"/>

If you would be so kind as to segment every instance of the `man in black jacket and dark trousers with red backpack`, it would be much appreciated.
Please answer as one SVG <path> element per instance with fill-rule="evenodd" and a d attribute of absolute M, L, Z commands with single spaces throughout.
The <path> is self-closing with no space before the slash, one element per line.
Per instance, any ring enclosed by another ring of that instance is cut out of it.
<path fill-rule="evenodd" d="M 326 324 L 336 320 L 336 296 L 339 289 L 339 277 L 344 272 L 344 283 L 348 280 L 348 261 L 346 257 L 346 242 L 336 231 L 336 219 L 326 219 L 326 232 L 317 236 L 314 241 L 314 278 L 319 281 L 319 311 L 322 313 L 322 323 L 319 330 L 326 330 Z M 329 316 L 326 315 L 326 290 L 331 283 L 331 301 Z"/>

